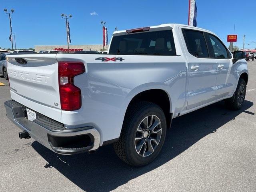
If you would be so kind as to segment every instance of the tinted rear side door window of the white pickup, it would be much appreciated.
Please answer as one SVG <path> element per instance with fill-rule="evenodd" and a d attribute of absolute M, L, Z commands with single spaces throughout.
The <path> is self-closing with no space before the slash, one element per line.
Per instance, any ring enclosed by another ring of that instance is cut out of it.
<path fill-rule="evenodd" d="M 203 32 L 184 29 L 183 34 L 190 54 L 202 58 L 209 57 Z"/>

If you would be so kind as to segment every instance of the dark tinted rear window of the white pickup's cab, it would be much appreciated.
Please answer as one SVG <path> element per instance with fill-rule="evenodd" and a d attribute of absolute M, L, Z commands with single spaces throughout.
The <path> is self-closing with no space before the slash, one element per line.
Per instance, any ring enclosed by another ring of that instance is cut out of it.
<path fill-rule="evenodd" d="M 176 55 L 172 30 L 114 36 L 109 54 Z"/>

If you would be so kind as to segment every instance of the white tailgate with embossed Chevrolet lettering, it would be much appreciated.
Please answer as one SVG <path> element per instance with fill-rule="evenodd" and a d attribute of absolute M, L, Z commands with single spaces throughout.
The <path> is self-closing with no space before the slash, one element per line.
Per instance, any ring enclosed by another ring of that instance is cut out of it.
<path fill-rule="evenodd" d="M 56 54 L 10 55 L 7 70 L 12 99 L 62 121 Z"/>

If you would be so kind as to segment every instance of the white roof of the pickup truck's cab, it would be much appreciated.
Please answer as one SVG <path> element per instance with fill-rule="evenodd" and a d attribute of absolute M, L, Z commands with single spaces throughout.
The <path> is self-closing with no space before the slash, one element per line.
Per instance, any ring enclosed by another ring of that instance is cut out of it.
<path fill-rule="evenodd" d="M 199 27 L 193 27 L 193 26 L 189 26 L 189 25 L 185 25 L 185 24 L 177 24 L 177 23 L 169 23 L 169 24 L 161 24 L 161 25 L 156 25 L 156 26 L 150 26 L 150 31 L 154 31 L 154 30 L 159 30 L 159 28 L 161 28 L 162 30 L 166 29 L 173 29 L 179 26 L 184 26 L 184 27 L 189 27 L 195 30 L 200 30 L 200 31 L 204 31 L 204 32 L 209 32 L 214 34 L 213 32 L 203 29 L 203 28 L 199 28 Z M 118 35 L 122 35 L 122 34 L 127 34 L 126 30 L 120 30 L 120 31 L 115 31 L 113 33 L 113 36 L 118 36 Z M 214 34 L 216 35 L 216 34 Z"/>

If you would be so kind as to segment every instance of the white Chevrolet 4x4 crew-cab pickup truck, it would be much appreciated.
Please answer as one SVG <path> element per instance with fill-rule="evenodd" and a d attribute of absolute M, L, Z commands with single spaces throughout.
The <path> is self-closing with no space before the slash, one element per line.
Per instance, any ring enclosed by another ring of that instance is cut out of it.
<path fill-rule="evenodd" d="M 114 32 L 108 54 L 10 54 L 8 118 L 58 154 L 114 143 L 132 166 L 159 154 L 173 118 L 244 103 L 248 69 L 212 32 L 163 24 Z"/>

